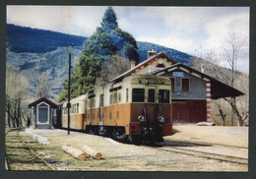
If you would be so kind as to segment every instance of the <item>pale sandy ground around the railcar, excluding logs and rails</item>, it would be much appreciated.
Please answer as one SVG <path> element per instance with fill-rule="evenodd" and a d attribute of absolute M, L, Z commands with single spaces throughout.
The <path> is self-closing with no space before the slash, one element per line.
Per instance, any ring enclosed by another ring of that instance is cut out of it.
<path fill-rule="evenodd" d="M 38 146 L 36 152 L 51 163 L 57 170 L 89 171 L 248 171 L 247 165 L 229 163 L 216 159 L 206 159 L 193 155 L 176 153 L 167 149 L 194 149 L 220 154 L 248 157 L 248 149 L 229 148 L 225 146 L 184 145 L 183 142 L 208 142 L 231 146 L 248 146 L 248 128 L 209 127 L 194 125 L 173 126 L 174 135 L 164 137 L 163 147 L 135 146 L 117 143 L 111 139 L 71 132 L 68 136 L 64 130 L 32 130 L 33 133 L 48 138 L 50 144 Z M 26 132 L 22 135 L 27 136 Z M 79 161 L 60 149 L 68 145 L 82 149 L 87 144 L 100 151 L 100 160 L 87 158 Z M 166 147 L 164 145 L 167 145 Z"/>

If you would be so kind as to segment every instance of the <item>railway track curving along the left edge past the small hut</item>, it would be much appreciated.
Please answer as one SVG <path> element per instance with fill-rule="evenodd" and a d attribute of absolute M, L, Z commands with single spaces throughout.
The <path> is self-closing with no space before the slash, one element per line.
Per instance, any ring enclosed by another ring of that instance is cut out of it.
<path fill-rule="evenodd" d="M 16 132 L 17 138 L 20 141 L 20 143 L 23 146 L 23 149 L 27 149 L 30 151 L 30 153 L 32 154 L 32 157 L 34 158 L 34 160 L 38 160 L 36 162 L 36 164 L 41 164 L 44 165 L 42 167 L 46 167 L 47 170 L 56 170 L 56 168 L 54 168 L 53 166 L 51 166 L 47 161 L 45 161 L 42 157 L 40 157 L 38 154 L 36 154 L 36 152 L 23 140 L 23 138 L 20 136 L 20 132 L 24 130 L 23 128 L 21 129 L 12 129 L 6 132 L 6 136 L 10 133 L 10 132 Z M 5 166 L 6 166 L 6 170 L 10 170 L 10 164 L 8 163 L 8 154 L 5 153 Z"/>

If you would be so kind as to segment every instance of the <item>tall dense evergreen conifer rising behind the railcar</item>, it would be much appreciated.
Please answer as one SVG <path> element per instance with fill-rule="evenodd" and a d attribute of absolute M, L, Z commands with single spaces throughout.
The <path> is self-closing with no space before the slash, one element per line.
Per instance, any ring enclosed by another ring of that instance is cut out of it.
<path fill-rule="evenodd" d="M 106 9 L 100 25 L 84 42 L 82 54 L 71 77 L 71 98 L 95 88 L 101 64 L 108 62 L 112 56 L 121 55 L 139 62 L 136 40 L 130 33 L 118 28 L 117 18 L 111 7 Z M 67 99 L 67 81 L 63 83 L 63 87 L 59 102 Z"/>

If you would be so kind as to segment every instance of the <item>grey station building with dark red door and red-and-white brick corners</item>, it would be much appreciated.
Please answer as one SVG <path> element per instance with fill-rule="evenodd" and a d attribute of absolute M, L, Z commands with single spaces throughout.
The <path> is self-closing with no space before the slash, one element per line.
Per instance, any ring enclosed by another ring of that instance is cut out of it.
<path fill-rule="evenodd" d="M 211 100 L 242 95 L 237 89 L 184 64 L 177 63 L 164 53 L 148 51 L 148 59 L 111 80 L 119 81 L 129 75 L 150 74 L 169 77 L 173 123 L 210 122 Z"/>

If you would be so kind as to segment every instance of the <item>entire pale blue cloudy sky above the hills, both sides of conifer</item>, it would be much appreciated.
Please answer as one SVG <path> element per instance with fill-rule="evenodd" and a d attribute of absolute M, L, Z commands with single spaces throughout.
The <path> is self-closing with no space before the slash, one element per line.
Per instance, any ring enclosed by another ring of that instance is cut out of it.
<path fill-rule="evenodd" d="M 7 23 L 90 36 L 104 6 L 7 6 Z M 237 69 L 249 71 L 248 7 L 113 7 L 119 27 L 136 40 L 200 56 L 220 54 L 230 31 L 244 39 Z M 226 66 L 224 61 L 221 62 Z"/>

